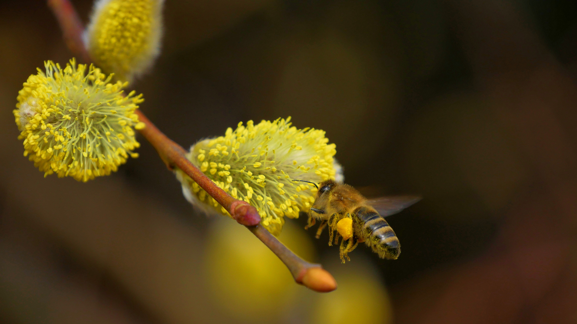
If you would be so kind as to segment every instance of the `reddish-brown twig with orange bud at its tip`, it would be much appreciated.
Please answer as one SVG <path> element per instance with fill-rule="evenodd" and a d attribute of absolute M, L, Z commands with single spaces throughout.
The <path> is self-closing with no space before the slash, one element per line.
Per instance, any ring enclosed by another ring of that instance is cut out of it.
<path fill-rule="evenodd" d="M 70 51 L 83 58 L 85 62 L 91 62 L 90 55 L 81 38 L 83 26 L 69 0 L 48 0 L 48 6 L 58 19 Z M 142 111 L 136 110 L 136 114 L 138 114 L 140 121 L 145 124 L 140 133 L 156 149 L 167 168 L 172 170 L 174 167 L 178 167 L 194 182 L 198 183 L 198 186 L 207 191 L 238 223 L 245 225 L 284 262 L 298 284 L 317 292 L 329 292 L 336 289 L 335 278 L 327 270 L 324 270 L 319 264 L 304 261 L 283 243 L 280 243 L 267 229 L 260 225 L 260 216 L 256 208 L 245 201 L 234 199 L 220 189 L 200 169 L 186 159 L 186 150 L 182 146 L 164 135 Z"/>

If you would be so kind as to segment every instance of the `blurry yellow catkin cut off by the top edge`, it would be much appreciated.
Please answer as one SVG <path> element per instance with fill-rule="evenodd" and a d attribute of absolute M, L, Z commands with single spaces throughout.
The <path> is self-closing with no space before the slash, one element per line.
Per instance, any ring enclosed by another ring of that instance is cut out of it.
<path fill-rule="evenodd" d="M 132 81 L 160 52 L 163 0 L 100 0 L 86 33 L 96 65 L 118 80 Z"/>

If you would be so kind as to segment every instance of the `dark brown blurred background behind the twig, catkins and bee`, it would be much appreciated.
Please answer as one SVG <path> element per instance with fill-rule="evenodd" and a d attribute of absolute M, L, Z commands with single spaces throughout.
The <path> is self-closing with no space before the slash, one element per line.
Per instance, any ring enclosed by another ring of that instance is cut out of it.
<path fill-rule="evenodd" d="M 92 1 L 75 0 L 86 22 Z M 339 282 L 316 294 L 245 228 L 195 213 L 141 138 L 89 183 L 23 157 L 12 110 L 71 54 L 41 0 L 0 1 L 0 322 L 577 323 L 577 3 L 166 0 L 133 84 L 183 146 L 239 121 L 327 131 L 347 183 L 421 194 L 384 261 L 287 221 Z"/>

